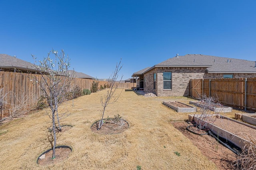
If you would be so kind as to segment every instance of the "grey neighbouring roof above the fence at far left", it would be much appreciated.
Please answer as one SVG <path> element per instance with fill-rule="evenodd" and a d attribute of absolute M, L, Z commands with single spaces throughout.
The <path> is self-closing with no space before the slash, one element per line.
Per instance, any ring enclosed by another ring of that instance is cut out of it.
<path fill-rule="evenodd" d="M 34 64 L 18 59 L 16 57 L 12 57 L 10 55 L 0 54 L 0 61 L 0 68 L 16 68 L 16 70 L 37 71 L 34 67 Z"/>

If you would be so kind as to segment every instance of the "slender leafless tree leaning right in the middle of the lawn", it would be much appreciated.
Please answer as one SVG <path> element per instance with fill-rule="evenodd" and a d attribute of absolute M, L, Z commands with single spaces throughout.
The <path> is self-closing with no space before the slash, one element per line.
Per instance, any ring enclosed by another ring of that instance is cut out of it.
<path fill-rule="evenodd" d="M 118 88 L 118 86 L 122 80 L 122 77 L 123 77 L 123 76 L 121 76 L 120 80 L 119 81 L 117 80 L 118 73 L 120 72 L 120 70 L 122 68 L 122 66 L 120 65 L 121 61 L 122 61 L 122 59 L 120 59 L 119 63 L 116 63 L 116 69 L 112 72 L 112 74 L 110 75 L 110 77 L 108 79 L 108 80 L 110 80 L 110 78 L 112 78 L 112 81 L 111 82 L 108 81 L 107 94 L 100 98 L 100 104 L 103 107 L 103 109 L 100 111 L 100 121 L 99 121 L 98 127 L 97 127 L 98 130 L 102 127 L 102 125 L 104 123 L 103 118 L 104 118 L 104 113 L 105 113 L 106 107 L 108 106 L 108 104 L 115 103 L 118 100 L 120 94 L 122 93 L 121 92 L 120 94 L 116 94 L 116 89 Z"/>

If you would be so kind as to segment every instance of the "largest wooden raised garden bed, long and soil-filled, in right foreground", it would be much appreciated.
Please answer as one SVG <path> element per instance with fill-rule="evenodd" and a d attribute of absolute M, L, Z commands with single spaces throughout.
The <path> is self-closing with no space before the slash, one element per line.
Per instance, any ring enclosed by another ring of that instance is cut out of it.
<path fill-rule="evenodd" d="M 218 118 L 217 118 L 217 117 Z M 197 125 L 206 126 L 212 133 L 228 140 L 239 148 L 244 147 L 248 136 L 256 139 L 256 127 L 222 115 L 189 115 L 189 120 Z"/>

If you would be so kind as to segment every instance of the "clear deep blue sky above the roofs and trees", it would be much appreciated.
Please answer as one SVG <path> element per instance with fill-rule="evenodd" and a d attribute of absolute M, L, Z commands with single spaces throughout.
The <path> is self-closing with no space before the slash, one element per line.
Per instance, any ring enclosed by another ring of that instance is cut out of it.
<path fill-rule="evenodd" d="M 34 63 L 64 49 L 72 68 L 123 80 L 177 53 L 256 60 L 256 0 L 1 0 L 0 53 Z"/>

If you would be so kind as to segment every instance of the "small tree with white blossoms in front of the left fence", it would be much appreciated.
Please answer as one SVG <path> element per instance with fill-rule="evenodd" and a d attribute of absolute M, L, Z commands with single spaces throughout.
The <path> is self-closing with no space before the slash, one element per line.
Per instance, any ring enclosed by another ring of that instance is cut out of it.
<path fill-rule="evenodd" d="M 54 55 L 54 60 L 50 58 L 50 55 Z M 52 158 L 55 158 L 55 147 L 56 147 L 56 118 L 58 123 L 58 129 L 61 131 L 60 116 L 58 113 L 58 107 L 66 98 L 66 92 L 70 88 L 71 81 L 73 79 L 73 72 L 69 71 L 70 59 L 65 56 L 62 50 L 60 55 L 58 51 L 50 51 L 48 57 L 44 57 L 42 61 L 38 61 L 39 65 L 36 65 L 36 58 L 34 58 L 34 67 L 40 74 L 39 79 L 35 74 L 30 74 L 30 79 L 34 83 L 40 86 L 40 89 L 44 92 L 44 96 L 47 99 L 48 105 L 50 106 L 51 113 L 48 114 L 52 119 L 52 132 L 54 138 L 54 145 L 52 147 L 53 153 Z"/>

